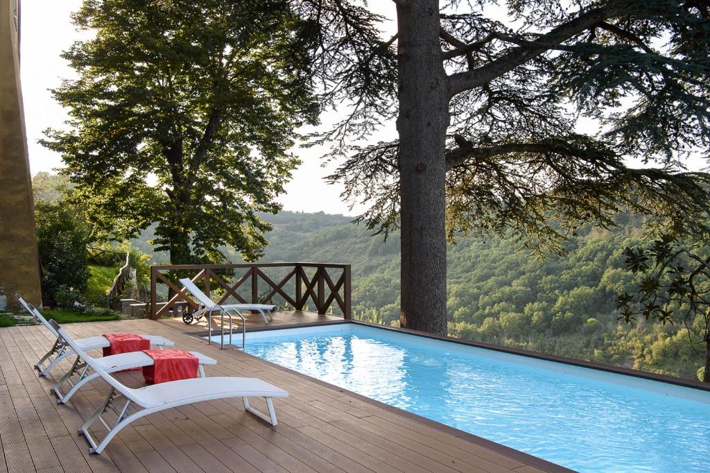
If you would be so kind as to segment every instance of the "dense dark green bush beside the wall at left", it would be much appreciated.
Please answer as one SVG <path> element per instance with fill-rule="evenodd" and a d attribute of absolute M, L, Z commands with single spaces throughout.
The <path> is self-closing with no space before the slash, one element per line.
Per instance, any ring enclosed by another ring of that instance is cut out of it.
<path fill-rule="evenodd" d="M 35 223 L 44 300 L 48 303 L 55 300 L 60 286 L 85 290 L 89 279 L 86 245 L 90 232 L 82 212 L 65 202 L 38 200 Z"/>

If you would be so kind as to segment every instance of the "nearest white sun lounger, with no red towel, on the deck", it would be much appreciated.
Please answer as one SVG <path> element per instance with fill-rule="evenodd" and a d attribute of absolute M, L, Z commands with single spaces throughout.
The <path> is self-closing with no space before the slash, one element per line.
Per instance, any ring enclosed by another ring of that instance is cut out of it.
<path fill-rule="evenodd" d="M 82 357 L 99 376 L 110 386 L 111 390 L 99 408 L 92 415 L 89 415 L 86 423 L 79 429 L 79 433 L 87 438 L 91 448 L 89 453 L 101 453 L 111 439 L 133 420 L 144 415 L 165 411 L 165 409 L 185 406 L 201 401 L 212 401 L 213 399 L 242 398 L 244 408 L 247 412 L 256 415 L 258 418 L 266 420 L 271 425 L 276 425 L 276 413 L 273 408 L 273 398 L 288 397 L 288 392 L 277 388 L 257 378 L 231 378 L 216 376 L 213 378 L 182 379 L 180 381 L 168 381 L 167 383 L 154 384 L 144 388 L 133 389 L 121 384 L 110 374 L 108 374 L 96 359 L 87 357 L 74 340 L 72 340 L 62 327 L 50 320 L 50 324 L 57 330 L 62 343 L 68 344 L 80 357 Z M 266 398 L 268 415 L 256 410 L 249 405 L 249 397 L 256 396 Z M 103 418 L 107 411 L 113 411 L 118 418 L 109 424 Z M 109 431 L 107 435 L 97 442 L 89 433 L 92 424 L 99 420 Z"/>

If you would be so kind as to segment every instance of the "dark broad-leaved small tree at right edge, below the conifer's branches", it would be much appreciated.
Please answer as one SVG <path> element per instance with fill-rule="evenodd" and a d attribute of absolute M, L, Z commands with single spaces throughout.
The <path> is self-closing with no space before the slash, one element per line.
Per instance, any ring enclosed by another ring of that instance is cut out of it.
<path fill-rule="evenodd" d="M 710 256 L 708 248 L 683 246 L 672 237 L 647 248 L 627 247 L 626 266 L 641 276 L 638 293 L 617 296 L 620 319 L 638 317 L 665 324 L 681 323 L 693 345 L 704 347 L 701 380 L 710 383 Z M 700 374 L 700 371 L 699 371 Z"/>

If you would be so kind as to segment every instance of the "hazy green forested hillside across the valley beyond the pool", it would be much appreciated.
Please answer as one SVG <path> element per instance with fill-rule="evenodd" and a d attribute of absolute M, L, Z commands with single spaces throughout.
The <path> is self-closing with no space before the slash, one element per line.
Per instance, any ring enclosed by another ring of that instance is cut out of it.
<path fill-rule="evenodd" d="M 262 261 L 351 263 L 355 316 L 398 323 L 398 234 L 383 241 L 342 215 L 264 218 L 274 229 Z M 703 357 L 687 329 L 616 320 L 614 295 L 637 287 L 621 249 L 642 241 L 640 223 L 625 215 L 613 231 L 586 229 L 546 258 L 508 240 L 460 239 L 449 246 L 449 335 L 697 379 Z"/>

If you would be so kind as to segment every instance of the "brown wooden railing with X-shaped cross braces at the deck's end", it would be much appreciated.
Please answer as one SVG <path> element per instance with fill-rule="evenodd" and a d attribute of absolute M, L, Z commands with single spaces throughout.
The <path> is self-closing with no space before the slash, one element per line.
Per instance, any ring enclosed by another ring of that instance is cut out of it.
<path fill-rule="evenodd" d="M 280 273 L 279 277 L 269 273 Z M 309 272 L 312 273 L 309 275 Z M 283 274 L 285 273 L 285 275 Z M 352 317 L 350 265 L 340 263 L 243 263 L 181 264 L 151 266 L 151 318 L 168 315 L 176 305 L 198 308 L 178 280 L 190 277 L 205 294 L 219 293 L 218 304 L 233 298 L 236 303 L 283 301 L 295 310 L 313 308 L 319 314 L 334 310 Z M 229 279 L 229 281 L 228 281 Z M 274 282 L 278 281 L 278 282 Z M 158 284 L 168 286 L 167 302 L 158 303 Z M 260 288 L 260 286 L 262 286 Z M 248 289 L 245 293 L 245 289 Z M 260 290 L 261 289 L 261 290 Z M 341 294 L 342 293 L 342 294 Z M 277 304 L 278 305 L 278 304 Z"/>

